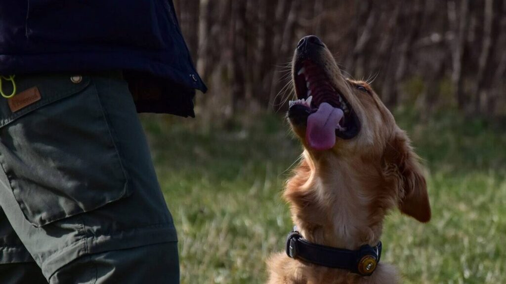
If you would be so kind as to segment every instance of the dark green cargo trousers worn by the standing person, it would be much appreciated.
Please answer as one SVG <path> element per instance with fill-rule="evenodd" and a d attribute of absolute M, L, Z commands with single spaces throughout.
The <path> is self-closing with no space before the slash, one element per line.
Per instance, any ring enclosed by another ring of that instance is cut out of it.
<path fill-rule="evenodd" d="M 179 283 L 176 230 L 121 73 L 15 82 L 0 97 L 0 283 Z"/>

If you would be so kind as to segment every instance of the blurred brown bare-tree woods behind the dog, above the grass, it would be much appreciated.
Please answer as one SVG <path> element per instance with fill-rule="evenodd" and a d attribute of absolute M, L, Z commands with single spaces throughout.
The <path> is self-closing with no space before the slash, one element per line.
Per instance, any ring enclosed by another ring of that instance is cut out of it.
<path fill-rule="evenodd" d="M 175 0 L 220 116 L 286 108 L 298 40 L 322 38 L 389 107 L 506 115 L 506 0 Z M 199 100 L 201 96 L 199 96 Z"/>

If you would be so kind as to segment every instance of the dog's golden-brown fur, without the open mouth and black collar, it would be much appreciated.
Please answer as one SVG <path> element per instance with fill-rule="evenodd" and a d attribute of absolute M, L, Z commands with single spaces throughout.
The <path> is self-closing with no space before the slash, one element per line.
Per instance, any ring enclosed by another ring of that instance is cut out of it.
<path fill-rule="evenodd" d="M 313 151 L 304 138 L 305 126 L 292 124 L 305 148 L 283 195 L 293 223 L 312 243 L 356 250 L 379 242 L 383 220 L 392 208 L 429 221 L 426 181 L 406 133 L 369 85 L 343 77 L 326 48 L 319 58 L 334 88 L 357 113 L 361 130 L 352 139 L 337 138 L 328 151 Z M 360 276 L 279 253 L 268 260 L 268 269 L 269 284 L 398 282 L 395 269 L 383 261 L 371 276 Z"/>

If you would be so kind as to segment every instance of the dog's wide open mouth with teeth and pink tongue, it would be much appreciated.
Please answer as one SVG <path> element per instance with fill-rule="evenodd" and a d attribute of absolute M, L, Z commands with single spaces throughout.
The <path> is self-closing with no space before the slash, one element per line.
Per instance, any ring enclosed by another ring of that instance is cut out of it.
<path fill-rule="evenodd" d="M 295 66 L 294 84 L 298 100 L 290 111 L 307 113 L 306 138 L 316 150 L 335 144 L 335 136 L 351 139 L 359 132 L 358 117 L 343 94 L 332 85 L 325 70 L 311 60 Z"/>

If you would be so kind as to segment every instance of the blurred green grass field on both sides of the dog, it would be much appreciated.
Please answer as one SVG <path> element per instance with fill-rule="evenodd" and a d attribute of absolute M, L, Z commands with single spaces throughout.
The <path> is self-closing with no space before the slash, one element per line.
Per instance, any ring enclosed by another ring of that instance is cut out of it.
<path fill-rule="evenodd" d="M 433 219 L 389 215 L 382 260 L 404 283 L 505 283 L 506 133 L 451 114 L 397 117 L 426 160 Z M 143 123 L 178 229 L 182 283 L 265 282 L 265 260 L 292 226 L 280 193 L 301 151 L 283 118 Z"/>

